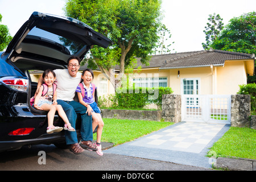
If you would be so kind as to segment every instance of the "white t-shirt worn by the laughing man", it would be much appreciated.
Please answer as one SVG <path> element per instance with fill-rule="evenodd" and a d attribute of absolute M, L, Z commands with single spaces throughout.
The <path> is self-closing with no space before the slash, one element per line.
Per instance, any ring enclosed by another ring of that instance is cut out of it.
<path fill-rule="evenodd" d="M 72 77 L 69 75 L 68 69 L 55 69 L 54 72 L 56 74 L 57 99 L 73 101 L 82 73 L 77 72 L 76 77 Z"/>

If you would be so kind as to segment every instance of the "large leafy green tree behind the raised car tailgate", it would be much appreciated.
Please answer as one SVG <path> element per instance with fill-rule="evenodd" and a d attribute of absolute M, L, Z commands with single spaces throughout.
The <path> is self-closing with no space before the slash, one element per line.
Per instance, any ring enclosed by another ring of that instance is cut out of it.
<path fill-rule="evenodd" d="M 65 14 L 79 19 L 94 30 L 108 36 L 114 44 L 107 49 L 94 46 L 88 57 L 90 67 L 97 67 L 112 81 L 111 69 L 119 64 L 117 80 L 125 68 L 141 57 L 148 63 L 158 42 L 160 0 L 68 0 Z"/>

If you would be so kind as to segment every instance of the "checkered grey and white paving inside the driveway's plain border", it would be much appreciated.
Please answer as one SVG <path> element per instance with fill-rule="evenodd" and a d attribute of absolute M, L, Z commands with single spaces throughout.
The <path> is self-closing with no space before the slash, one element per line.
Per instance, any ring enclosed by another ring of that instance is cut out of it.
<path fill-rule="evenodd" d="M 224 126 L 222 124 L 185 122 L 135 140 L 130 145 L 200 153 Z"/>

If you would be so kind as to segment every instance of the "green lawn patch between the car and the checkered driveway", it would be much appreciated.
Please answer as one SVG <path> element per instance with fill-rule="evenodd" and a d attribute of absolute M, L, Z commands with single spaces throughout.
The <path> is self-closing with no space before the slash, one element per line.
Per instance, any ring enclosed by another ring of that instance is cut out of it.
<path fill-rule="evenodd" d="M 103 118 L 104 129 L 101 141 L 111 142 L 115 145 L 130 142 L 134 139 L 150 134 L 153 131 L 170 126 L 171 122 L 143 121 L 129 119 L 109 119 Z M 96 140 L 96 133 L 93 139 Z"/>

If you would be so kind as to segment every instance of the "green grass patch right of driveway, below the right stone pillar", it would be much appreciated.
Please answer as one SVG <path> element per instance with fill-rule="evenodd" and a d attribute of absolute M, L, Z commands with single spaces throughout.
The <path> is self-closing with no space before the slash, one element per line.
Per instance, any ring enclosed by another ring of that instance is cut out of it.
<path fill-rule="evenodd" d="M 217 157 L 256 159 L 256 130 L 245 127 L 230 127 L 210 151 Z"/>

